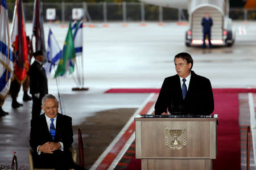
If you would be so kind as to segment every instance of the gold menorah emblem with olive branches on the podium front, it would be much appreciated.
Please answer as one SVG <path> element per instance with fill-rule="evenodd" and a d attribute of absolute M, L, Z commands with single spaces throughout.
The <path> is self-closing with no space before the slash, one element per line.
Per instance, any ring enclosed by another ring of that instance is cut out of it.
<path fill-rule="evenodd" d="M 183 136 L 183 142 L 180 142 L 177 139 L 181 136 L 181 134 Z M 169 142 L 170 136 L 174 141 L 171 140 L 171 142 Z M 170 148 L 171 150 L 181 150 L 181 148 L 185 148 L 185 146 L 187 145 L 187 131 L 185 130 L 185 128 L 183 130 L 166 128 L 165 144 L 166 144 L 166 147 Z"/>

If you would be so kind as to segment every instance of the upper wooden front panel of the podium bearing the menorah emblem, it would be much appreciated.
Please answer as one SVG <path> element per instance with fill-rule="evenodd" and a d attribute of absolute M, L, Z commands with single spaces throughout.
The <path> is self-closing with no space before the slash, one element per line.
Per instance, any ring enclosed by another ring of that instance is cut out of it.
<path fill-rule="evenodd" d="M 136 158 L 216 159 L 214 118 L 138 118 Z"/>

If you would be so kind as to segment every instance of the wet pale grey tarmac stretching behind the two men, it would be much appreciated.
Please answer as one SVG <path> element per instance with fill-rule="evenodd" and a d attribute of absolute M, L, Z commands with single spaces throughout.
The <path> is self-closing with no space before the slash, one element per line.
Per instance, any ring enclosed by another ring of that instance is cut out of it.
<path fill-rule="evenodd" d="M 185 46 L 188 26 L 176 22 L 162 26 L 156 22 L 146 23 L 146 26 L 128 23 L 127 27 L 122 23 L 108 24 L 109 27 L 102 27 L 103 23 L 96 23 L 94 28 L 88 27 L 89 24 L 84 27 L 84 77 L 89 90 L 72 91 L 72 87 L 76 87 L 72 75 L 59 78 L 62 112 L 73 118 L 73 146 L 76 149 L 77 128 L 82 128 L 85 153 L 88 149 L 85 154 L 87 168 L 150 95 L 104 92 L 110 88 L 160 88 L 165 77 L 176 74 L 174 56 L 177 53 L 190 53 L 194 60 L 193 70 L 210 79 L 213 88 L 256 87 L 256 22 L 233 21 L 234 45 L 205 50 Z M 46 42 L 49 27 L 63 48 L 68 27 L 45 23 Z M 31 35 L 31 23 L 26 24 L 26 31 Z M 48 78 L 49 94 L 57 96 L 53 74 Z M 10 95 L 3 104 L 9 115 L 0 117 L 0 163 L 11 163 L 16 150 L 19 165 L 28 167 L 32 102 L 23 102 L 22 97 L 20 90 L 18 101 L 24 105 L 18 109 L 11 108 Z"/>

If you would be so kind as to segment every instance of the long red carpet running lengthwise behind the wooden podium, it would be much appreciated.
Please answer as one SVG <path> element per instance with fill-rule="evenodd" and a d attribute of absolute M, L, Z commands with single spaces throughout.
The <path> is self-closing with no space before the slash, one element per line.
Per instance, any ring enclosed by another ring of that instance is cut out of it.
<path fill-rule="evenodd" d="M 218 154 L 213 160 L 213 169 L 241 169 L 238 93 L 236 90 L 224 91 L 213 90 L 214 114 L 219 117 Z M 134 157 L 126 169 L 141 169 L 141 160 Z"/>

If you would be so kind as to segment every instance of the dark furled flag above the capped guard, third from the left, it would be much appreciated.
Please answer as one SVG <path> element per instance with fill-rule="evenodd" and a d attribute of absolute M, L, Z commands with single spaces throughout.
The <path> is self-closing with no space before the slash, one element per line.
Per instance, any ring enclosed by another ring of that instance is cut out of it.
<path fill-rule="evenodd" d="M 33 14 L 33 33 L 35 36 L 35 50 L 46 51 L 46 44 L 44 42 L 44 27 L 43 27 L 43 12 L 40 0 L 34 2 L 34 14 Z"/>

